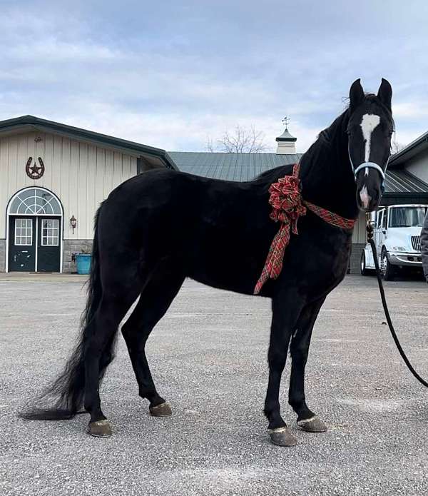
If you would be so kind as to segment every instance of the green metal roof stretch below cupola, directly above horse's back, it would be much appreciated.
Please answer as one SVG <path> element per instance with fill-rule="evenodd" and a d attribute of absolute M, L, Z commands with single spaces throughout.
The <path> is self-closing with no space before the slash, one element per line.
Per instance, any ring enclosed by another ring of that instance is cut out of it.
<path fill-rule="evenodd" d="M 271 168 L 297 163 L 302 153 L 220 153 L 169 151 L 178 170 L 205 178 L 250 181 Z"/>

